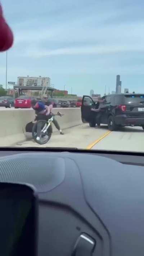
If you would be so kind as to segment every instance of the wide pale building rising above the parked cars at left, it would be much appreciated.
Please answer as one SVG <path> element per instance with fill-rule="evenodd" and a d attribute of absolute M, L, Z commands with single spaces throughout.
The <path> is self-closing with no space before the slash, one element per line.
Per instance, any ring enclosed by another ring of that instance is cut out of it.
<path fill-rule="evenodd" d="M 50 78 L 49 77 L 30 77 L 30 76 L 18 76 L 17 80 L 18 86 L 48 86 L 50 87 Z"/>

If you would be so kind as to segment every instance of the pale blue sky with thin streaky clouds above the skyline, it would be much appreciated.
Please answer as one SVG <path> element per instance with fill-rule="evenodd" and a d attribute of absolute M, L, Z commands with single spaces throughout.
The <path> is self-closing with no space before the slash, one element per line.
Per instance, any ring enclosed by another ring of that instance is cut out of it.
<path fill-rule="evenodd" d="M 142 0 L 1 0 L 14 33 L 8 81 L 46 76 L 59 90 L 79 96 L 113 91 L 144 93 Z M 5 86 L 6 53 L 0 53 Z"/>

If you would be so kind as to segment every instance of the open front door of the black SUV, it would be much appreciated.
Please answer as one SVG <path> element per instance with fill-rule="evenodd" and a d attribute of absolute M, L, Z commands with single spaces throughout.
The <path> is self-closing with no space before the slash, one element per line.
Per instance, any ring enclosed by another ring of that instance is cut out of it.
<path fill-rule="evenodd" d="M 95 113 L 91 111 L 91 108 L 95 108 L 95 102 L 90 96 L 84 95 L 81 105 L 81 120 L 83 123 L 93 122 Z"/>

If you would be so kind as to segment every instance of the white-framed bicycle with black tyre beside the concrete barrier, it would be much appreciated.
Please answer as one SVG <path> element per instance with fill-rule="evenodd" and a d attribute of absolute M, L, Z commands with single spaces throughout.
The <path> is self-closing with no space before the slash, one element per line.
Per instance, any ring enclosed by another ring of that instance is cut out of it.
<path fill-rule="evenodd" d="M 58 111 L 57 114 L 52 114 L 51 118 L 49 118 L 47 121 L 46 120 L 38 120 L 36 123 L 34 123 L 33 128 L 32 128 L 32 137 L 36 143 L 42 145 L 42 144 L 47 143 L 50 140 L 51 134 L 53 132 L 51 122 L 53 122 L 54 116 L 62 117 L 63 114 L 61 114 Z M 38 138 L 40 138 L 39 140 L 37 139 L 37 133 L 39 135 Z"/>

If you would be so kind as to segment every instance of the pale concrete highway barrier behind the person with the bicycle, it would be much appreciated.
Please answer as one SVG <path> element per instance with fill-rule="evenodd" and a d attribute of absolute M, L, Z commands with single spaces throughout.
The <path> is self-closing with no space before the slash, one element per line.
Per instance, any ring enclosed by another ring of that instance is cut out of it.
<path fill-rule="evenodd" d="M 64 116 L 55 117 L 58 120 L 61 129 L 80 125 L 81 110 L 80 108 L 55 108 L 53 113 L 60 111 Z M 35 118 L 33 109 L 10 109 L 0 111 L 0 146 L 8 147 L 15 143 L 26 140 L 27 133 L 25 127 L 27 123 Z M 53 132 L 57 131 L 53 125 Z"/>

